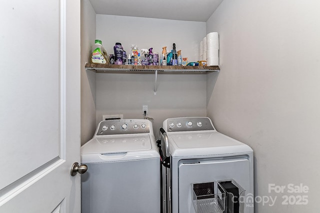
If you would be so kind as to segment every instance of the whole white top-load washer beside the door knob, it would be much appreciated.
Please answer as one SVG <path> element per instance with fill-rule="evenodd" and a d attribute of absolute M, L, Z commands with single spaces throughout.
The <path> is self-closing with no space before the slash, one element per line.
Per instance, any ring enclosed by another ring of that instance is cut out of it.
<path fill-rule="evenodd" d="M 160 213 L 159 162 L 149 120 L 101 121 L 81 146 L 81 213 Z"/>

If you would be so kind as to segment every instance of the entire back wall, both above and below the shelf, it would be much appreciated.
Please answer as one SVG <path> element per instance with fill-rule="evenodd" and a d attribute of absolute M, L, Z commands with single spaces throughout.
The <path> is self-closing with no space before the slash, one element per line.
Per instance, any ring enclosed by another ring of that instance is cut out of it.
<path fill-rule="evenodd" d="M 96 15 L 96 38 L 108 53 L 115 42 L 130 52 L 130 45 L 153 47 L 153 51 L 173 42 L 182 57 L 198 58 L 198 44 L 205 36 L 205 22 L 176 21 L 156 18 Z M 153 94 L 153 74 L 96 74 L 96 123 L 102 115 L 123 114 L 124 119 L 142 119 L 142 105 L 154 119 L 157 137 L 163 120 L 169 117 L 206 115 L 206 75 L 159 74 L 157 92 Z"/>

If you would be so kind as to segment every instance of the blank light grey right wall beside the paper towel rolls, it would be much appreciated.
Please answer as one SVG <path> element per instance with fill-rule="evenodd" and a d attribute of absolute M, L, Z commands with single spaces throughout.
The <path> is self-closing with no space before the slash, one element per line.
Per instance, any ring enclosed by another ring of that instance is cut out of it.
<path fill-rule="evenodd" d="M 319 209 L 319 8 L 316 0 L 224 0 L 206 23 L 219 32 L 221 69 L 208 75 L 207 115 L 254 150 L 255 196 L 276 198 L 257 202 L 255 213 Z M 269 193 L 268 184 L 286 189 Z M 309 191 L 288 193 L 288 184 Z M 282 205 L 282 196 L 302 195 L 307 205 Z"/>

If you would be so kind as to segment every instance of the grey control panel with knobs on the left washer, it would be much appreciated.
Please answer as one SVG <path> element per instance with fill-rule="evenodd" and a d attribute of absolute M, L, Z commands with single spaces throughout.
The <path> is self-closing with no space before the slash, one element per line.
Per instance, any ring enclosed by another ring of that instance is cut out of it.
<path fill-rule="evenodd" d="M 150 124 L 145 119 L 119 119 L 101 121 L 96 135 L 149 133 Z"/>

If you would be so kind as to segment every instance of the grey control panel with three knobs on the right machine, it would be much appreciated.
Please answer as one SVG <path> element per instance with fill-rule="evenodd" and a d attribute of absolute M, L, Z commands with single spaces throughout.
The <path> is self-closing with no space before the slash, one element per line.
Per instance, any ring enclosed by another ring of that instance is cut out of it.
<path fill-rule="evenodd" d="M 185 117 L 166 119 L 167 132 L 214 130 L 207 117 Z"/>

